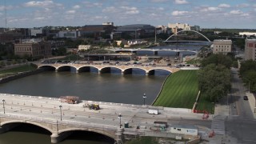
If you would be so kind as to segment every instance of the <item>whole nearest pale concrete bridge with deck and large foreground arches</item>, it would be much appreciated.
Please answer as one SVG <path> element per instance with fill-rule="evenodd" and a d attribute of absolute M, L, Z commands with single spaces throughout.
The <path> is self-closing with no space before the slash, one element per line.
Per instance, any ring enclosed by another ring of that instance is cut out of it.
<path fill-rule="evenodd" d="M 191 113 L 190 109 L 85 100 L 68 104 L 59 98 L 18 94 L 0 94 L 0 97 L 0 133 L 25 123 L 48 130 L 52 143 L 62 141 L 77 130 L 104 134 L 117 143 L 139 136 L 175 138 L 177 134 L 170 133 L 170 130 L 156 132 L 150 127 L 155 121 L 181 124 L 181 118 L 194 119 L 201 124 L 206 122 L 202 121 L 202 114 Z M 85 107 L 85 104 L 92 103 L 99 104 L 101 110 Z M 147 114 L 149 109 L 158 109 L 160 113 Z M 125 122 L 129 126 L 124 126 Z"/>

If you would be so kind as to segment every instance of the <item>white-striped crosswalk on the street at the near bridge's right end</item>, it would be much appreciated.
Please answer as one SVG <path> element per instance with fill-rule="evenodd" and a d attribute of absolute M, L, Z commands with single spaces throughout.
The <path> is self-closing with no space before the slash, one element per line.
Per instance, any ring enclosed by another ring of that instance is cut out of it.
<path fill-rule="evenodd" d="M 222 134 L 226 133 L 225 127 L 226 116 L 217 115 L 214 116 L 211 122 L 211 130 L 214 130 L 214 134 Z"/>

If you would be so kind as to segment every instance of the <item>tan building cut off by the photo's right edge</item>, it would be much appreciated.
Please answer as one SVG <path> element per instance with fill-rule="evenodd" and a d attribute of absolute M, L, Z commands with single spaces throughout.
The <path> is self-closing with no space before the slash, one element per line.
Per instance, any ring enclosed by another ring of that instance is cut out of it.
<path fill-rule="evenodd" d="M 256 39 L 246 39 L 245 44 L 245 59 L 256 59 Z"/>

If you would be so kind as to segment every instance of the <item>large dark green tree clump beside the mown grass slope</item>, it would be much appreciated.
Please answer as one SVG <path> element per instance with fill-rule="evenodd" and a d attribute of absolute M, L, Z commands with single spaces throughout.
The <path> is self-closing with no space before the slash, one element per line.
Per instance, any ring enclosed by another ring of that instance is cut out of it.
<path fill-rule="evenodd" d="M 232 64 L 232 58 L 223 54 L 211 54 L 202 61 L 202 69 L 198 70 L 198 86 L 202 97 L 210 102 L 218 102 L 228 94 L 231 90 Z"/>

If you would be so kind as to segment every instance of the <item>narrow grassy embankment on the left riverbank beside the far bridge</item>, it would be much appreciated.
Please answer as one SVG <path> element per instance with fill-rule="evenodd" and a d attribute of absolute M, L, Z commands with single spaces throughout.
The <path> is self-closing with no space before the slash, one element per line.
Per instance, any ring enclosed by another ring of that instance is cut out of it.
<path fill-rule="evenodd" d="M 0 70 L 0 78 L 18 74 L 20 72 L 36 70 L 36 69 L 37 69 L 37 67 L 33 66 L 33 65 L 22 65 L 22 66 L 10 67 L 10 68 L 6 68 L 4 70 Z"/>

